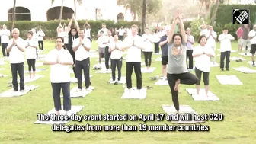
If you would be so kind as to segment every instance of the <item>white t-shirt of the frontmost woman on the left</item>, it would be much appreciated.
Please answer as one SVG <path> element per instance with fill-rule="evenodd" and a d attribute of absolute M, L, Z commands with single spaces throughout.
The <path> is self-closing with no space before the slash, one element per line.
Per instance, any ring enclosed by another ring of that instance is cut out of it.
<path fill-rule="evenodd" d="M 61 62 L 72 62 L 72 56 L 70 55 L 68 50 L 61 49 L 61 50 L 51 50 L 50 53 L 46 55 L 45 60 L 47 62 L 56 62 L 57 59 Z M 68 65 L 51 65 L 50 66 L 50 82 L 52 83 L 62 83 L 62 82 L 70 82 L 70 72 Z"/>

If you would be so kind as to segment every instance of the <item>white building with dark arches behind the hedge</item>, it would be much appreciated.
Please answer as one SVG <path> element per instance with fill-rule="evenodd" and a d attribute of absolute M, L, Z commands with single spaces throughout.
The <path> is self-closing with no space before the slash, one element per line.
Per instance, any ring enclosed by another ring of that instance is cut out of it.
<path fill-rule="evenodd" d="M 129 8 L 117 5 L 118 0 L 94 0 L 74 3 L 74 0 L 63 1 L 62 19 L 77 20 L 126 20 L 132 21 L 133 14 Z M 11 21 L 13 1 L 5 1 L 0 5 L 0 21 Z M 59 19 L 62 0 L 16 0 L 16 21 L 50 21 Z M 76 5 L 76 6 L 75 6 Z M 129 13 L 130 12 L 130 13 Z"/>

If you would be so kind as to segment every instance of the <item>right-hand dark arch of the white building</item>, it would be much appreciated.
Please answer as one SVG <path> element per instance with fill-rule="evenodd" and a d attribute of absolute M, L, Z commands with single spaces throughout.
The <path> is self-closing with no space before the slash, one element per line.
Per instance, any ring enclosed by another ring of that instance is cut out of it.
<path fill-rule="evenodd" d="M 61 8 L 60 6 L 50 8 L 47 11 L 47 21 L 58 20 L 60 8 Z M 74 11 L 72 10 L 72 8 L 63 7 L 62 20 L 71 19 L 73 14 L 74 14 Z"/>

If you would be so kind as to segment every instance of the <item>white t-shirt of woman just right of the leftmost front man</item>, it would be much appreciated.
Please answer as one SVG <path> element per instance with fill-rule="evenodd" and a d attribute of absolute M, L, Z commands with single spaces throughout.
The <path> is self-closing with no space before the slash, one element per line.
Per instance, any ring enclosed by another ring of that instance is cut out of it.
<path fill-rule="evenodd" d="M 30 43 L 30 46 L 37 46 L 37 41 L 34 39 L 25 40 L 26 46 Z M 25 50 L 27 59 L 37 59 L 37 48 L 28 46 Z"/>

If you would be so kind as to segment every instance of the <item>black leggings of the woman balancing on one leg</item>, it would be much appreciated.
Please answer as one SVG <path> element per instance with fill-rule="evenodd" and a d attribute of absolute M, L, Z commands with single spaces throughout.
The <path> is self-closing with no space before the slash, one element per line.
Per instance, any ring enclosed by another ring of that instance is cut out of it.
<path fill-rule="evenodd" d="M 178 101 L 178 91 L 174 91 L 176 81 L 180 79 L 180 83 L 184 85 L 194 85 L 198 82 L 196 75 L 191 74 L 190 72 L 181 73 L 181 74 L 167 74 L 167 80 L 169 87 L 171 88 L 171 98 L 174 103 L 175 109 L 180 110 L 180 105 Z"/>

